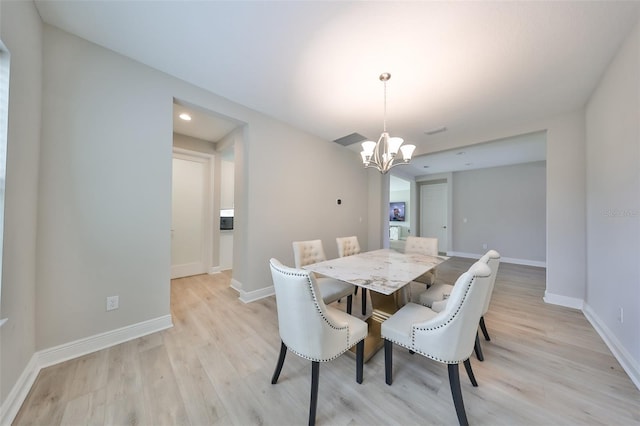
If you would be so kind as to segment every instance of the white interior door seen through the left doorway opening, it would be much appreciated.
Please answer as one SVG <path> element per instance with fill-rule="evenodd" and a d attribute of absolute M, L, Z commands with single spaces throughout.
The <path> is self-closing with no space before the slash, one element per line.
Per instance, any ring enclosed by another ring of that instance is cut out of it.
<path fill-rule="evenodd" d="M 174 153 L 171 201 L 171 278 L 207 272 L 209 160 Z"/>

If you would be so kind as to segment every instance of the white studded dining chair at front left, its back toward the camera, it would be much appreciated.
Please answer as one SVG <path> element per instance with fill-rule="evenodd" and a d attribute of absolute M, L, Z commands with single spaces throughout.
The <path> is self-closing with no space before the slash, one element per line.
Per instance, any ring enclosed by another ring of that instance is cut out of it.
<path fill-rule="evenodd" d="M 276 291 L 280 356 L 271 379 L 278 382 L 287 349 L 311 361 L 309 425 L 315 424 L 318 406 L 320 363 L 331 361 L 356 346 L 356 382 L 362 383 L 364 338 L 367 323 L 339 309 L 325 305 L 312 272 L 269 261 Z"/>

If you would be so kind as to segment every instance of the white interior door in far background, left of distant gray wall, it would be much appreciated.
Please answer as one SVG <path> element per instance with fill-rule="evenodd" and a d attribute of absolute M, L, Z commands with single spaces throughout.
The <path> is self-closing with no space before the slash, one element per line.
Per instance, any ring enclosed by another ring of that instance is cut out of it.
<path fill-rule="evenodd" d="M 420 187 L 420 236 L 436 237 L 441 253 L 446 253 L 448 247 L 448 205 L 446 183 Z"/>

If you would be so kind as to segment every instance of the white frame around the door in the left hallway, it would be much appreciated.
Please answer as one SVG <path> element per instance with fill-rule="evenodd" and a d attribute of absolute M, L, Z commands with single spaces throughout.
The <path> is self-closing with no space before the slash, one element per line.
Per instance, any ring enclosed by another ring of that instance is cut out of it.
<path fill-rule="evenodd" d="M 213 263 L 213 232 L 215 229 L 215 219 L 214 219 L 215 215 L 213 214 L 213 212 L 215 211 L 214 210 L 215 155 L 199 152 L 199 151 L 192 151 L 184 148 L 173 147 L 172 154 L 171 154 L 172 162 L 173 162 L 173 159 L 175 158 L 186 159 L 186 160 L 197 160 L 197 161 L 204 160 L 203 162 L 206 162 L 207 166 L 209 167 L 209 179 L 207 182 L 207 188 L 204 191 L 206 199 L 204 200 L 204 203 L 203 203 L 204 205 L 203 214 L 205 217 L 205 221 L 203 224 L 204 247 L 202 250 L 202 257 L 203 257 L 202 263 L 204 265 L 205 272 L 211 273 L 211 270 L 214 265 Z M 173 168 L 171 171 L 171 179 L 173 181 Z M 173 210 L 173 196 L 171 199 L 171 203 L 172 203 L 172 210 Z M 171 223 L 173 223 L 173 218 Z M 169 267 L 170 268 L 173 267 L 173 257 L 171 257 Z"/>

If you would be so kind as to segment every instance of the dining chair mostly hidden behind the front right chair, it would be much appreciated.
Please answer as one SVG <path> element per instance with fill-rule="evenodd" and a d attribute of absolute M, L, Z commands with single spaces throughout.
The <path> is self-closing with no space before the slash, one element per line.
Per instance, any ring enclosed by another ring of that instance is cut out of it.
<path fill-rule="evenodd" d="M 489 280 L 489 291 L 487 292 L 486 300 L 484 301 L 484 307 L 482 309 L 482 315 L 480 316 L 480 329 L 484 335 L 485 340 L 489 341 L 489 332 L 487 326 L 484 323 L 484 316 L 489 310 L 489 304 L 491 303 L 491 296 L 493 294 L 493 288 L 496 283 L 496 276 L 498 275 L 498 267 L 500 266 L 500 253 L 495 250 L 489 250 L 481 258 L 480 262 L 486 263 L 491 268 L 491 278 Z M 445 283 L 435 283 L 429 287 L 426 291 L 422 292 L 418 296 L 418 300 L 422 305 L 425 305 L 436 312 L 440 312 L 446 306 L 448 302 L 448 296 L 451 294 L 453 286 Z M 476 357 L 480 361 L 484 361 L 484 354 L 482 353 L 482 346 L 480 345 L 480 339 L 476 336 L 475 344 Z"/>

